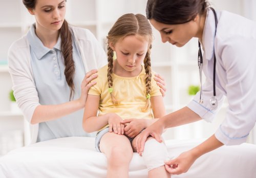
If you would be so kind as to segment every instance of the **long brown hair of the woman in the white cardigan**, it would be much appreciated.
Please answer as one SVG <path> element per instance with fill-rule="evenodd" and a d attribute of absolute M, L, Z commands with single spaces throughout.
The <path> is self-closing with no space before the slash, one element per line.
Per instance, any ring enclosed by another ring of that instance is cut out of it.
<path fill-rule="evenodd" d="M 27 9 L 35 9 L 36 0 L 23 0 L 23 4 Z M 72 46 L 72 35 L 69 30 L 69 25 L 66 20 L 63 21 L 61 28 L 59 29 L 61 38 L 61 52 L 65 63 L 65 77 L 70 87 L 70 100 L 74 97 L 75 86 L 74 86 L 74 73 L 75 73 L 75 62 L 73 60 L 73 46 Z"/>

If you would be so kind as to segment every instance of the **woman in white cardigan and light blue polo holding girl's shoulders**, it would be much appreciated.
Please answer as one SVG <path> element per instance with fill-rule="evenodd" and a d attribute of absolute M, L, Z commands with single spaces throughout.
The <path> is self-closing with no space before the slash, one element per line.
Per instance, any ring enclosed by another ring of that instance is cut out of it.
<path fill-rule="evenodd" d="M 9 49 L 14 96 L 32 125 L 32 143 L 89 136 L 82 129 L 90 83 L 106 55 L 87 29 L 69 26 L 64 0 L 23 0 L 36 22 Z M 156 78 L 164 94 L 161 77 Z"/>

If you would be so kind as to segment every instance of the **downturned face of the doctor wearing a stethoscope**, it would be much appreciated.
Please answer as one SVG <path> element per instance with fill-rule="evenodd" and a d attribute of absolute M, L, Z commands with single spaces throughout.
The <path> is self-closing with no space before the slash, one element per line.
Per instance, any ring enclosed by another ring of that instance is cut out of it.
<path fill-rule="evenodd" d="M 169 42 L 177 47 L 183 47 L 191 38 L 199 37 L 198 16 L 185 24 L 168 25 L 154 19 L 150 23 L 161 34 L 162 42 Z"/>

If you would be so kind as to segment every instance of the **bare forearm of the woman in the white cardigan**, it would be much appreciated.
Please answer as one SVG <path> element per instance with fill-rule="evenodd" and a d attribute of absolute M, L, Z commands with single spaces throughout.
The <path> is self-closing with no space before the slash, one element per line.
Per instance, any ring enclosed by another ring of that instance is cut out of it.
<path fill-rule="evenodd" d="M 80 103 L 79 100 L 57 105 L 38 105 L 35 108 L 31 124 L 58 119 L 82 109 L 83 106 L 83 103 Z"/>

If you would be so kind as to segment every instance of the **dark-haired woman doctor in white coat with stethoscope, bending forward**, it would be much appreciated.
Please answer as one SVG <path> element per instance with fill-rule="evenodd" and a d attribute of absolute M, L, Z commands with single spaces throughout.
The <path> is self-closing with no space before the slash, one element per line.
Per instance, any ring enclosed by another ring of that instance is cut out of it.
<path fill-rule="evenodd" d="M 198 38 L 199 71 L 200 76 L 204 72 L 206 81 L 186 107 L 164 116 L 143 131 L 137 142 L 140 154 L 148 136 L 161 142 L 165 128 L 201 119 L 211 122 L 224 97 L 228 100 L 226 117 L 215 134 L 166 162 L 167 171 L 181 174 L 211 150 L 224 144 L 244 143 L 255 124 L 256 23 L 230 12 L 215 12 L 206 0 L 148 0 L 146 15 L 163 42 L 182 47 L 191 38 Z"/>

